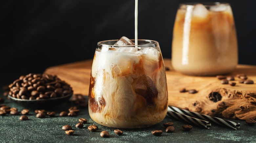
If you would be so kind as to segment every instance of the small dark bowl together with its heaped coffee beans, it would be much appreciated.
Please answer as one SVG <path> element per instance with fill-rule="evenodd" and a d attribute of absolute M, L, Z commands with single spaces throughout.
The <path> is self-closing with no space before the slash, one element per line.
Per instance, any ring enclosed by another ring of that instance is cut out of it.
<path fill-rule="evenodd" d="M 72 87 L 56 75 L 30 73 L 9 85 L 8 97 L 23 106 L 50 108 L 72 96 Z"/>

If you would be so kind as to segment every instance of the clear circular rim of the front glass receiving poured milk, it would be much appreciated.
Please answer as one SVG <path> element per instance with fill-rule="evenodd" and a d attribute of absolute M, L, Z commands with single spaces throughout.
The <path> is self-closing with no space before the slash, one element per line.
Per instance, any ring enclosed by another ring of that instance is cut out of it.
<path fill-rule="evenodd" d="M 103 42 L 110 42 L 110 41 L 118 41 L 119 39 L 117 40 L 104 40 L 104 41 L 99 41 L 97 43 L 97 45 L 99 46 L 103 46 L 103 45 L 107 45 L 107 46 L 113 46 L 113 47 L 134 47 L 134 46 L 146 46 L 146 45 L 156 45 L 158 44 L 158 41 L 155 41 L 155 40 L 146 40 L 146 39 L 138 39 L 138 41 L 146 41 L 146 42 L 153 42 L 153 43 L 148 43 L 148 44 L 140 44 L 140 45 L 110 45 L 110 44 L 102 44 Z M 132 41 L 135 41 L 135 39 L 130 39 Z"/>

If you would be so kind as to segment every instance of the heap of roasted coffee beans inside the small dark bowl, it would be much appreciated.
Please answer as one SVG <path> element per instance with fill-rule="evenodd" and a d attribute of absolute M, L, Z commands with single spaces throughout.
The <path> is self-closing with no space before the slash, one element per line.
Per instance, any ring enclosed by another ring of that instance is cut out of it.
<path fill-rule="evenodd" d="M 13 98 L 29 100 L 56 98 L 73 93 L 69 84 L 50 74 L 22 75 L 9 88 L 9 95 Z"/>

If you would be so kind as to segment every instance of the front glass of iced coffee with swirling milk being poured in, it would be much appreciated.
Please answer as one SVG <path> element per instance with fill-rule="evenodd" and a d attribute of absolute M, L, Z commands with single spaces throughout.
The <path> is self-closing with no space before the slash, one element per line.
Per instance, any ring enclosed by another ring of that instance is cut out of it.
<path fill-rule="evenodd" d="M 168 95 L 158 42 L 138 40 L 138 47 L 117 43 L 97 44 L 89 87 L 90 117 L 114 128 L 159 123 L 167 113 Z"/>

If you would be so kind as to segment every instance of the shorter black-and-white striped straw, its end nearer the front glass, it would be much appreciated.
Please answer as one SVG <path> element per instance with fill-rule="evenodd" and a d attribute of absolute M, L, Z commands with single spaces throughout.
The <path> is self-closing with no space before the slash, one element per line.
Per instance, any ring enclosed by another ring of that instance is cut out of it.
<path fill-rule="evenodd" d="M 174 117 L 176 119 L 182 120 L 182 121 L 196 124 L 198 126 L 201 126 L 201 127 L 207 128 L 207 129 L 209 129 L 211 127 L 211 123 L 208 121 L 196 119 L 196 118 L 193 118 L 193 117 L 190 117 L 187 115 L 183 115 L 183 114 L 171 111 L 170 107 L 168 107 L 167 115 Z"/>

